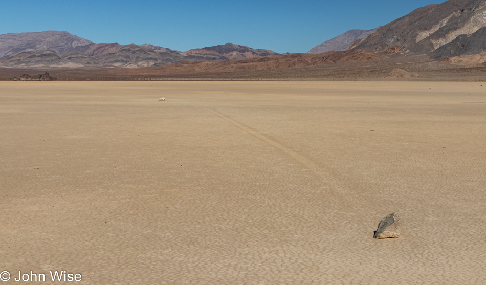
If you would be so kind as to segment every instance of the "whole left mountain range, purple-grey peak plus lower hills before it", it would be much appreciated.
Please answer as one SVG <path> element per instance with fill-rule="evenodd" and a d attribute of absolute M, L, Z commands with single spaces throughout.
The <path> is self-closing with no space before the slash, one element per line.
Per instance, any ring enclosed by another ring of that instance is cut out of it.
<path fill-rule="evenodd" d="M 140 68 L 182 61 L 223 61 L 267 55 L 280 54 L 232 43 L 186 52 L 149 44 L 93 43 L 61 31 L 0 35 L 0 66 L 3 67 Z"/>

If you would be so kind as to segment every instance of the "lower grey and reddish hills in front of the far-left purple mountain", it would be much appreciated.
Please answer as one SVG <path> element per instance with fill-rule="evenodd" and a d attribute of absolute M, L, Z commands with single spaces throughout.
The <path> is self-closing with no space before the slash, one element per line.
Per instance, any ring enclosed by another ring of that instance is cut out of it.
<path fill-rule="evenodd" d="M 16 68 L 80 68 L 112 67 L 140 68 L 159 67 L 181 61 L 224 61 L 246 59 L 266 55 L 279 55 L 273 51 L 252 49 L 227 43 L 179 53 L 152 45 L 119 45 L 118 43 L 91 43 L 75 47 L 67 53 L 52 49 L 27 51 L 0 59 L 0 67 Z"/>

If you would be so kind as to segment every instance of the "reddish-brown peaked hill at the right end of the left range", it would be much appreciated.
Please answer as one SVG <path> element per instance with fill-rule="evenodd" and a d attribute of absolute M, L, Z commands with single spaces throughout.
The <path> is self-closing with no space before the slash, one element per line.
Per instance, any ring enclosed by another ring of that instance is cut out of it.
<path fill-rule="evenodd" d="M 254 57 L 262 57 L 267 55 L 280 55 L 271 50 L 252 49 L 247 46 L 234 45 L 233 43 L 226 43 L 226 45 L 217 45 L 213 47 L 206 47 L 202 49 L 192 49 L 181 53 L 188 58 L 194 60 L 205 61 L 221 61 L 228 59 L 246 59 Z"/>

